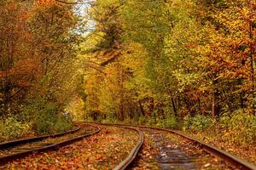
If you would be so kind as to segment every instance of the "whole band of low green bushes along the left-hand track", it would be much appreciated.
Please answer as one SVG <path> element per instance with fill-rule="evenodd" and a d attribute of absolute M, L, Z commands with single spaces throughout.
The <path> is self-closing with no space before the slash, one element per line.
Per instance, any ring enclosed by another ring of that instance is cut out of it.
<path fill-rule="evenodd" d="M 73 128 L 72 117 L 58 111 L 56 105 L 27 106 L 22 113 L 0 120 L 0 142 L 26 136 L 61 133 Z"/>

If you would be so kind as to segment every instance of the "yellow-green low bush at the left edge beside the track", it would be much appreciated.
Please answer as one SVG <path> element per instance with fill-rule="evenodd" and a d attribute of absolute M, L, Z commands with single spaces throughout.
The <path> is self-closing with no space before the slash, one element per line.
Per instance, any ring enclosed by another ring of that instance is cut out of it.
<path fill-rule="evenodd" d="M 0 142 L 22 137 L 31 130 L 29 123 L 22 123 L 14 116 L 0 121 Z"/>

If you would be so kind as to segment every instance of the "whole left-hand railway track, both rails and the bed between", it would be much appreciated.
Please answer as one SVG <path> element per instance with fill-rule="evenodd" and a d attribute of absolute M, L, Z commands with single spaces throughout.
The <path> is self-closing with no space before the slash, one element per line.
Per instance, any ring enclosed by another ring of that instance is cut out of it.
<path fill-rule="evenodd" d="M 76 129 L 66 133 L 56 133 L 52 135 L 44 135 L 30 139 L 20 139 L 0 144 L 0 166 L 3 167 L 7 162 L 27 156 L 33 152 L 59 149 L 62 146 L 72 144 L 73 142 L 79 141 L 80 139 L 84 139 L 85 137 L 99 133 L 101 130 L 100 127 L 95 125 L 90 125 L 90 127 L 93 127 L 95 130 L 88 131 L 81 127 L 77 127 Z M 70 133 L 73 133 L 72 138 L 67 137 L 67 139 L 65 139 L 65 135 Z M 45 142 L 51 140 L 54 141 L 59 137 L 63 139 L 61 141 L 56 140 L 55 142 Z"/>

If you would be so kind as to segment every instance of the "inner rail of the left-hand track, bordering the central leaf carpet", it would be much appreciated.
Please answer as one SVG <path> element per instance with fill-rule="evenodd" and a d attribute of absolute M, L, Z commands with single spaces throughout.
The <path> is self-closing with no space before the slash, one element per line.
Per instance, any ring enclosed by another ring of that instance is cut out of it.
<path fill-rule="evenodd" d="M 8 163 L 9 161 L 13 161 L 17 158 L 21 158 L 21 157 L 27 156 L 29 154 L 32 154 L 35 151 L 43 152 L 46 150 L 58 150 L 61 147 L 66 146 L 67 144 L 72 144 L 73 142 L 79 141 L 81 139 L 84 139 L 85 137 L 91 136 L 91 135 L 99 133 L 101 131 L 101 128 L 98 126 L 94 126 L 94 125 L 90 125 L 90 126 L 96 127 L 96 131 L 92 132 L 92 133 L 86 133 L 86 134 L 79 135 L 78 137 L 74 137 L 73 139 L 63 140 L 63 141 L 55 143 L 55 144 L 49 144 L 46 146 L 42 146 L 40 148 L 32 148 L 31 150 L 20 151 L 18 153 L 11 154 L 8 156 L 0 156 L 0 166 L 3 166 L 4 164 Z"/>

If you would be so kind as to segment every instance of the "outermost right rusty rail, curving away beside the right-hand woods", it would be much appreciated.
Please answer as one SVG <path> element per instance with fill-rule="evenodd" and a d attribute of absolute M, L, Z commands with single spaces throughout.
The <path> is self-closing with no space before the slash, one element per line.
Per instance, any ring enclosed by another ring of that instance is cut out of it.
<path fill-rule="evenodd" d="M 183 137 L 183 139 L 188 139 L 192 143 L 198 145 L 199 147 L 201 147 L 202 150 L 205 150 L 207 153 L 211 154 L 212 156 L 217 156 L 218 158 L 222 159 L 223 161 L 230 163 L 230 165 L 232 165 L 233 167 L 236 167 L 236 168 L 242 169 L 242 170 L 256 170 L 256 166 L 253 165 L 252 163 L 244 161 L 241 158 L 239 158 L 238 156 L 234 156 L 227 151 L 218 149 L 217 147 L 213 146 L 212 144 L 207 144 L 201 140 L 192 138 L 192 137 L 190 137 L 184 133 L 181 133 L 177 130 L 171 130 L 171 129 L 161 128 L 161 127 L 134 126 L 134 125 L 117 124 L 117 123 L 113 123 L 112 125 L 148 128 L 148 129 L 166 131 L 169 133 L 177 134 L 178 136 Z"/>

